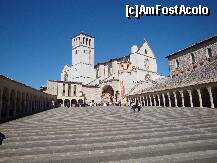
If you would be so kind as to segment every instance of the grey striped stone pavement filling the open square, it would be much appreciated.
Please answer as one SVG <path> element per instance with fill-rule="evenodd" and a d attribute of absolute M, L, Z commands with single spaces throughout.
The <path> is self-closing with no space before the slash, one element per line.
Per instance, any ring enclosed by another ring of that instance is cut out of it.
<path fill-rule="evenodd" d="M 1 162 L 217 162 L 217 110 L 56 108 L 0 124 Z"/>

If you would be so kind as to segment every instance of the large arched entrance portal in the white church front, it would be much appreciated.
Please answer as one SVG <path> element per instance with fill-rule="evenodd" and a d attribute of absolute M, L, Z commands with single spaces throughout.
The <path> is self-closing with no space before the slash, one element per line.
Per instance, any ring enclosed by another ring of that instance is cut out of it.
<path fill-rule="evenodd" d="M 110 85 L 105 85 L 102 88 L 102 102 L 113 102 L 114 98 L 114 89 Z"/>

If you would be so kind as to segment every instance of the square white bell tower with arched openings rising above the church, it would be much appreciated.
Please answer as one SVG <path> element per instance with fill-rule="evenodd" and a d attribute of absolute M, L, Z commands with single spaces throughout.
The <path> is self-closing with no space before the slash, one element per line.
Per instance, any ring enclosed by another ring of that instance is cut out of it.
<path fill-rule="evenodd" d="M 72 65 L 94 67 L 94 37 L 79 33 L 72 38 Z"/>

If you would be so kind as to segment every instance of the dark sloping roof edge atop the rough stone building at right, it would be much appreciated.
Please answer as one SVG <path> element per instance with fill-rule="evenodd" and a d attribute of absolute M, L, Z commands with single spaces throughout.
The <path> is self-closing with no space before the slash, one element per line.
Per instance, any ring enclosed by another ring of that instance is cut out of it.
<path fill-rule="evenodd" d="M 172 53 L 172 54 L 168 55 L 166 58 L 169 59 L 171 56 L 180 55 L 181 53 L 184 53 L 184 52 L 190 50 L 191 48 L 194 48 L 194 47 L 203 45 L 203 44 L 205 44 L 205 43 L 208 43 L 208 42 L 211 42 L 211 41 L 214 41 L 214 40 L 217 41 L 217 35 L 212 36 L 212 37 L 210 37 L 210 38 L 208 38 L 208 39 L 206 39 L 206 40 L 203 40 L 203 41 L 201 41 L 201 42 L 198 42 L 198 43 L 196 43 L 196 44 L 193 44 L 193 45 L 191 45 L 191 46 L 189 46 L 189 47 L 187 47 L 187 48 L 181 49 L 181 50 L 179 50 L 178 52 Z"/>

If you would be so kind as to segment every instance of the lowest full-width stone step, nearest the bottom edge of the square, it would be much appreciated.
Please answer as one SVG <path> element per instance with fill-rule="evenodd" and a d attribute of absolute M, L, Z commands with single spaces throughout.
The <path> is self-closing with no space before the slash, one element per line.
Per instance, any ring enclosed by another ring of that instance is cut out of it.
<path fill-rule="evenodd" d="M 158 144 L 150 146 L 137 146 L 128 148 L 114 148 L 105 150 L 79 151 L 67 153 L 52 153 L 52 154 L 38 154 L 38 155 L 23 155 L 2 157 L 0 162 L 16 162 L 19 161 L 38 161 L 44 162 L 49 160 L 71 160 L 72 162 L 89 163 L 100 161 L 115 161 L 132 158 L 144 158 L 153 156 L 163 156 L 169 154 L 187 153 L 195 151 L 217 150 L 217 139 L 212 140 L 198 140 L 168 144 Z"/>

